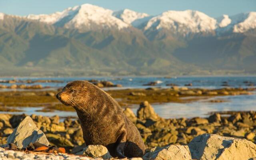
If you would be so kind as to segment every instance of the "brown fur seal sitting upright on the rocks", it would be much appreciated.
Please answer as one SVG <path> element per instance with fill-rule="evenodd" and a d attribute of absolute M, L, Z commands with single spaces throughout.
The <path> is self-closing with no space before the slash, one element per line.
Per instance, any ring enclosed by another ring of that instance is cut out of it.
<path fill-rule="evenodd" d="M 140 132 L 109 94 L 90 82 L 76 80 L 56 97 L 76 110 L 86 145 L 106 146 L 118 158 L 143 156 L 146 147 Z"/>

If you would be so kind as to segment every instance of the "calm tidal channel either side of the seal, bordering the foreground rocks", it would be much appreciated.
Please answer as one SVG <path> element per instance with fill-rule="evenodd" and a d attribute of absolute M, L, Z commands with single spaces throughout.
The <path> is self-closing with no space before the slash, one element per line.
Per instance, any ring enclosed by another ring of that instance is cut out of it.
<path fill-rule="evenodd" d="M 225 99 L 226 102 L 212 103 L 208 102 L 212 99 Z M 163 103 L 152 104 L 154 110 L 163 118 L 192 118 L 192 117 L 207 117 L 210 112 L 220 111 L 249 111 L 256 110 L 256 94 L 253 95 L 240 95 L 240 96 L 218 96 L 211 99 L 202 99 L 192 103 Z M 136 114 L 139 105 L 134 105 L 131 109 Z M 60 117 L 77 116 L 76 112 L 55 111 L 55 112 L 37 112 L 42 107 L 16 107 L 16 109 L 23 110 L 24 112 L 0 112 L 8 114 L 36 114 L 42 116 Z"/>

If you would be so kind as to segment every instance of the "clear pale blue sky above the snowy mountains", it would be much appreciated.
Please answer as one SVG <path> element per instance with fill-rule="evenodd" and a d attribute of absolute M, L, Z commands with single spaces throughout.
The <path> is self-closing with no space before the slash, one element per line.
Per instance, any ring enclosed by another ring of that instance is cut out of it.
<path fill-rule="evenodd" d="M 256 11 L 256 0 L 0 0 L 0 12 L 20 16 L 49 14 L 85 3 L 112 10 L 128 8 L 150 15 L 187 9 L 199 10 L 212 17 Z"/>

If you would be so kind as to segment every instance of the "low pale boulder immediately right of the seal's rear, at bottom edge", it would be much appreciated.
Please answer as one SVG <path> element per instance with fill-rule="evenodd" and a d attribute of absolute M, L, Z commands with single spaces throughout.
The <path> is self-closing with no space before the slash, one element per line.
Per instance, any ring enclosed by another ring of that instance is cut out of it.
<path fill-rule="evenodd" d="M 169 145 L 154 147 L 143 156 L 143 160 L 191 160 L 188 146 Z"/>

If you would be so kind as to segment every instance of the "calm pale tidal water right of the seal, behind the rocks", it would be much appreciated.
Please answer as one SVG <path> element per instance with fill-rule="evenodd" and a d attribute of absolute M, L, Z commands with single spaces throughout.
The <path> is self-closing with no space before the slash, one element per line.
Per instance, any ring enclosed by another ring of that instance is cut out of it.
<path fill-rule="evenodd" d="M 163 118 L 208 117 L 210 112 L 256 110 L 256 95 L 223 96 L 227 102 L 211 103 L 205 100 L 192 103 L 153 104 L 154 110 Z M 138 108 L 132 108 L 134 113 Z"/>

